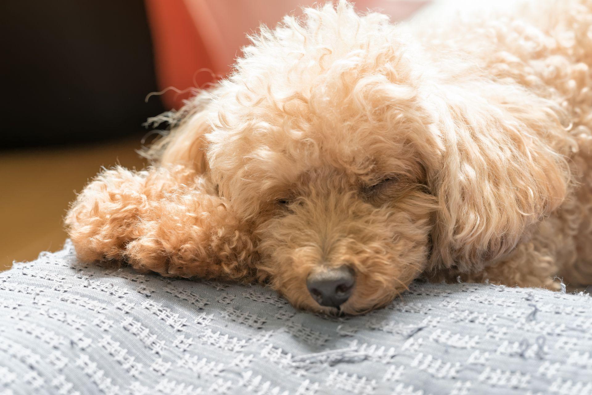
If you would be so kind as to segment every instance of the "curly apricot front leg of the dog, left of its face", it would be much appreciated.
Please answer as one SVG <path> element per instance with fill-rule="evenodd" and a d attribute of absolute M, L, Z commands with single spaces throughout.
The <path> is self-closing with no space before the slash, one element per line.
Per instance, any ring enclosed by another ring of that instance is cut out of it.
<path fill-rule="evenodd" d="M 248 227 L 184 167 L 105 170 L 78 195 L 66 226 L 83 260 L 124 260 L 164 276 L 255 276 Z"/>

